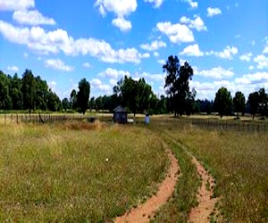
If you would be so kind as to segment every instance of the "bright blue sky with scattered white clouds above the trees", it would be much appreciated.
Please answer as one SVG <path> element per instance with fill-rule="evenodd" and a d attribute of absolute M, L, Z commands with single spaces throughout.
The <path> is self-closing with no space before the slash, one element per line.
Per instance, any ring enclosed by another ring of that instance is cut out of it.
<path fill-rule="evenodd" d="M 31 69 L 62 99 L 81 78 L 110 95 L 125 75 L 162 95 L 171 54 L 194 68 L 197 98 L 268 91 L 268 1 L 0 0 L 0 70 Z"/>

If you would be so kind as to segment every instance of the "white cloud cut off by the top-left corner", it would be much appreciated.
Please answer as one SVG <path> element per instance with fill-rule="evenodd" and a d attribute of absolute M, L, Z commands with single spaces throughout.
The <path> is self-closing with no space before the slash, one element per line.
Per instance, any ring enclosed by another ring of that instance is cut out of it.
<path fill-rule="evenodd" d="M 25 10 L 34 6 L 34 0 L 0 0 L 0 11 Z"/>

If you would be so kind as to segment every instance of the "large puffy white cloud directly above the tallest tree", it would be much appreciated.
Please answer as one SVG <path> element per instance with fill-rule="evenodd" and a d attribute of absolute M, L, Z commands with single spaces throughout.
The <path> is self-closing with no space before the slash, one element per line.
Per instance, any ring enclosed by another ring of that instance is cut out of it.
<path fill-rule="evenodd" d="M 188 26 L 180 23 L 172 24 L 170 21 L 158 22 L 157 29 L 170 38 L 172 43 L 188 43 L 194 42 L 193 32 Z"/>

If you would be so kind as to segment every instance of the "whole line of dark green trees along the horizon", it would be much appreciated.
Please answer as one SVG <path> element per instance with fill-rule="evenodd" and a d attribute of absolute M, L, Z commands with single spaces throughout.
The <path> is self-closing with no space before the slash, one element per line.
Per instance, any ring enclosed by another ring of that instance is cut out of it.
<path fill-rule="evenodd" d="M 166 96 L 157 97 L 152 87 L 144 78 L 121 78 L 113 87 L 112 95 L 89 97 L 90 83 L 86 78 L 79 82 L 79 90 L 73 89 L 70 98 L 61 101 L 47 85 L 46 80 L 35 77 L 31 70 L 25 70 L 22 78 L 17 74 L 5 75 L 0 70 L 0 110 L 31 111 L 113 111 L 118 106 L 124 106 L 134 116 L 137 113 L 163 114 L 173 113 L 174 116 L 190 115 L 192 113 L 218 112 L 223 115 L 233 115 L 235 112 L 244 115 L 257 113 L 263 118 L 268 117 L 268 95 L 264 88 L 248 95 L 238 91 L 234 97 L 226 87 L 221 87 L 214 100 L 196 100 L 197 92 L 189 89 L 189 80 L 194 72 L 188 62 L 180 64 L 177 56 L 169 56 L 163 65 L 166 74 L 164 88 Z"/>

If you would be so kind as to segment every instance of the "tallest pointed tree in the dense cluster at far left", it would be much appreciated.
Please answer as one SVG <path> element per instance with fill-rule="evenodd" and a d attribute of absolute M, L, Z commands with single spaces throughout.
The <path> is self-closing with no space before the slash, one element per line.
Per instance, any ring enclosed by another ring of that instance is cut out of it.
<path fill-rule="evenodd" d="M 37 82 L 34 78 L 31 70 L 25 70 L 22 74 L 22 98 L 23 98 L 23 108 L 28 109 L 29 113 L 35 108 L 37 91 Z"/>

